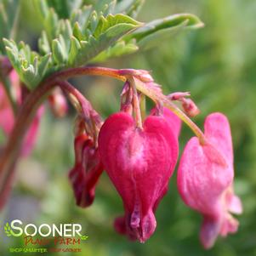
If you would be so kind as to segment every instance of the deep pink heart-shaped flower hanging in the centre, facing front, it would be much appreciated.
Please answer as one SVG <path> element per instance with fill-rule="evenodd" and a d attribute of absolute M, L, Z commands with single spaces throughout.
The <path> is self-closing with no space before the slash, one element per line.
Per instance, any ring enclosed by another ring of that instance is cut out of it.
<path fill-rule="evenodd" d="M 133 117 L 118 112 L 100 129 L 99 150 L 125 210 L 116 219 L 116 230 L 145 242 L 156 229 L 154 212 L 174 172 L 177 136 L 164 117 L 149 116 L 140 129 Z"/>

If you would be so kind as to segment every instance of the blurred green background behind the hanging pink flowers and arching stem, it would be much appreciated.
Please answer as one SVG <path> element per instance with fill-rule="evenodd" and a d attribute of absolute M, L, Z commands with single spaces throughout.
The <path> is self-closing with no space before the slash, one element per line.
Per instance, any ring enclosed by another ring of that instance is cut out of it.
<path fill-rule="evenodd" d="M 80 223 L 89 236 L 81 246 L 86 256 L 256 255 L 256 1 L 147 0 L 137 20 L 176 13 L 196 14 L 205 27 L 169 37 L 151 51 L 100 65 L 151 70 L 166 94 L 190 91 L 202 111 L 195 118 L 201 127 L 204 117 L 213 111 L 222 111 L 230 118 L 235 190 L 244 207 L 238 217 L 239 231 L 219 238 L 213 249 L 204 251 L 198 240 L 202 219 L 179 198 L 176 174 L 156 211 L 156 232 L 145 244 L 129 242 L 113 229 L 113 220 L 122 214 L 122 201 L 106 174 L 100 179 L 93 206 L 77 208 L 67 179 L 74 162 L 72 109 L 68 117 L 59 120 L 46 111 L 35 151 L 20 160 L 14 191 L 1 213 L 1 223 L 7 219 L 37 224 Z M 22 1 L 21 17 L 26 19 L 20 20 L 18 37 L 35 46 L 40 24 L 29 1 Z M 119 109 L 121 83 L 99 77 L 72 82 L 104 117 Z M 192 135 L 184 125 L 180 152 Z M 22 241 L 18 238 L 5 239 L 1 255 L 9 255 L 8 248 L 19 245 Z"/>

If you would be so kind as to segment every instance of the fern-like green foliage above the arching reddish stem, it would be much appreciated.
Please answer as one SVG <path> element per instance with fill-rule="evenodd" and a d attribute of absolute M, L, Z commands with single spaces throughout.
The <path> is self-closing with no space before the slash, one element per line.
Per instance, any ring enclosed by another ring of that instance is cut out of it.
<path fill-rule="evenodd" d="M 11 3 L 15 0 L 0 0 Z M 11 33 L 3 35 L 5 51 L 20 79 L 30 89 L 48 74 L 68 67 L 100 62 L 154 46 L 184 28 L 202 26 L 191 14 L 177 14 L 142 24 L 134 20 L 144 0 L 97 1 L 31 0 L 43 26 L 38 53 L 26 43 L 15 43 Z M 1 5 L 0 5 L 1 7 Z M 1 9 L 0 9 L 1 10 Z M 10 28 L 11 31 L 11 28 Z"/>

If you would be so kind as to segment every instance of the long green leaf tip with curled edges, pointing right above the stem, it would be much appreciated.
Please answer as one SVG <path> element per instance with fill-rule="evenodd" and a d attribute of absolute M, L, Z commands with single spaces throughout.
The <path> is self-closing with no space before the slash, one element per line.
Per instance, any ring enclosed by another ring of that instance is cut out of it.
<path fill-rule="evenodd" d="M 168 36 L 172 36 L 173 32 L 182 31 L 183 29 L 196 29 L 202 26 L 202 21 L 196 15 L 174 14 L 145 24 L 145 26 L 125 37 L 124 40 L 136 39 L 139 48 L 151 48 Z"/>

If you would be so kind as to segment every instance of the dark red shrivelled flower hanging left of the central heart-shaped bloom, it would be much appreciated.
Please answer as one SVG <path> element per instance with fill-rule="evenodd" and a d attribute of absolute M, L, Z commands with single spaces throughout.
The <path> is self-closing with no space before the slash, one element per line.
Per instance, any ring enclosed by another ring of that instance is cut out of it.
<path fill-rule="evenodd" d="M 98 149 L 86 134 L 78 135 L 75 139 L 75 158 L 69 179 L 77 205 L 86 208 L 94 202 L 95 186 L 103 172 Z"/>

